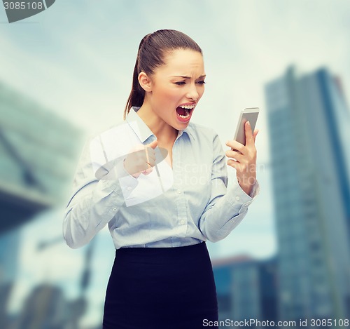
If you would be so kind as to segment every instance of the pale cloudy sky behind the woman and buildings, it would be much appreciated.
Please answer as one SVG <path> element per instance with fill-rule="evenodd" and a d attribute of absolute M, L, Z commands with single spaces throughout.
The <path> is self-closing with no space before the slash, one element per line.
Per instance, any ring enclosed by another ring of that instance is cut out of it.
<path fill-rule="evenodd" d="M 214 128 L 223 144 L 233 137 L 241 109 L 260 107 L 255 143 L 260 194 L 237 229 L 223 241 L 209 243 L 212 257 L 274 255 L 264 86 L 289 65 L 302 73 L 328 67 L 342 78 L 349 99 L 349 1 L 57 0 L 48 10 L 12 24 L 0 8 L 0 81 L 90 135 L 123 119 L 139 41 L 157 29 L 179 29 L 201 46 L 207 83 L 192 120 Z M 230 177 L 235 178 L 232 170 Z M 61 214 L 59 208 L 52 210 L 22 229 L 18 300 L 33 282 L 45 280 L 64 281 L 72 297 L 77 293 L 85 249 L 57 243 L 38 254 L 35 247 L 43 231 L 45 239 L 62 234 Z M 104 229 L 96 239 L 92 267 L 108 276 L 111 237 Z M 96 275 L 93 280 L 102 279 Z M 92 284 L 88 293 L 100 289 L 101 284 Z"/>

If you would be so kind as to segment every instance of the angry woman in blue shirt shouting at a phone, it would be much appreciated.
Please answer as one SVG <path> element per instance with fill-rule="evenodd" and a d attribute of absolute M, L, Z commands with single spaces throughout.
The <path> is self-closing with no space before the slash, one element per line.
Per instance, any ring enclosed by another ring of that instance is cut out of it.
<path fill-rule="evenodd" d="M 202 50 L 189 36 L 146 35 L 125 121 L 90 140 L 80 158 L 64 238 L 78 248 L 109 224 L 116 258 L 104 328 L 202 328 L 218 320 L 205 241 L 228 236 L 258 194 L 258 131 L 247 123 L 246 145 L 226 143 L 237 170 L 227 190 L 218 135 L 190 123 L 205 76 Z"/>

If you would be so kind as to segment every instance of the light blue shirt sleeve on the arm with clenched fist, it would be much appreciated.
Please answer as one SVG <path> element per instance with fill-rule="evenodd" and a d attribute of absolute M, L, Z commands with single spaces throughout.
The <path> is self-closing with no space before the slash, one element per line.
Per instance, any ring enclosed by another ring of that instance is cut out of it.
<path fill-rule="evenodd" d="M 117 215 L 125 198 L 138 184 L 137 179 L 124 169 L 122 158 L 115 166 L 119 170 L 118 175 L 111 175 L 111 166 L 97 163 L 93 159 L 91 145 L 91 139 L 87 140 L 78 161 L 73 192 L 64 213 L 63 236 L 71 248 L 84 246 L 103 229 Z M 99 170 L 100 174 L 96 175 L 96 169 L 103 167 L 103 170 Z M 105 179 L 101 177 L 102 171 L 106 172 Z"/>

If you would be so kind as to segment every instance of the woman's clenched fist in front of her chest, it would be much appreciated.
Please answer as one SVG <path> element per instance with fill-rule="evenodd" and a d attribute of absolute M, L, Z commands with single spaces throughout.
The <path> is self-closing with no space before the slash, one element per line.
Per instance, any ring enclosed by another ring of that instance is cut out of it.
<path fill-rule="evenodd" d="M 139 175 L 148 175 L 152 172 L 155 166 L 155 147 L 158 145 L 158 140 L 154 140 L 148 145 L 140 145 L 127 155 L 124 160 L 124 168 L 132 177 Z"/>

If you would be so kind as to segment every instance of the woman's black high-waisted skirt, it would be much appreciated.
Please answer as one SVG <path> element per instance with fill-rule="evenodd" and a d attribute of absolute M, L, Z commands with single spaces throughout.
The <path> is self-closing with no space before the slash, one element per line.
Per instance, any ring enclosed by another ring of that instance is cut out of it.
<path fill-rule="evenodd" d="M 206 319 L 218 321 L 218 302 L 205 242 L 116 250 L 104 329 L 196 329 Z"/>

